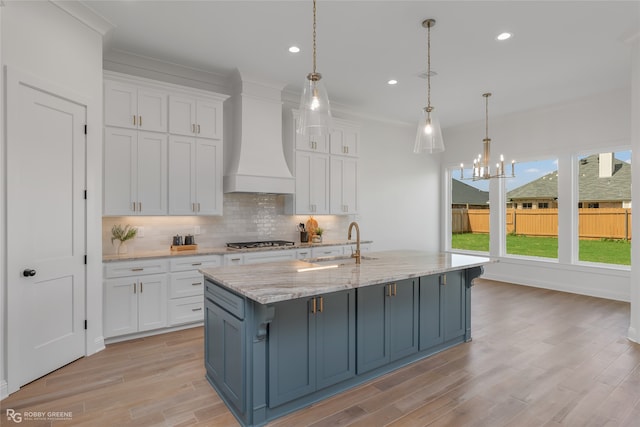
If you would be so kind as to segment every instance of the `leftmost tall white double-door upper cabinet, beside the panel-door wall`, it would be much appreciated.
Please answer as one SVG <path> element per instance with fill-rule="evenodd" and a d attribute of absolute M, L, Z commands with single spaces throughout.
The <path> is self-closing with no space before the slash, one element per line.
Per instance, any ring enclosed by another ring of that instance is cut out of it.
<path fill-rule="evenodd" d="M 167 136 L 106 128 L 104 215 L 167 214 Z"/>

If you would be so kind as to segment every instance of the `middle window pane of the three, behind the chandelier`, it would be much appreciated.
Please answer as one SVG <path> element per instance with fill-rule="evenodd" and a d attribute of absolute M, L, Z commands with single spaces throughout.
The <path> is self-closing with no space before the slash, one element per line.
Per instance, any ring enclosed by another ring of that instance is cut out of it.
<path fill-rule="evenodd" d="M 558 161 L 516 163 L 507 179 L 507 254 L 558 258 Z"/>

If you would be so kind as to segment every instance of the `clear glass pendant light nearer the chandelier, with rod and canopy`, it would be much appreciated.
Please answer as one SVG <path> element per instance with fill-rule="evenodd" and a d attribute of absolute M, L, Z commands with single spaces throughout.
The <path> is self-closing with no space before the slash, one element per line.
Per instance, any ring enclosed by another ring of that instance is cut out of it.
<path fill-rule="evenodd" d="M 444 151 L 444 141 L 440 122 L 433 115 L 431 105 L 431 27 L 436 25 L 435 19 L 425 19 L 422 26 L 427 29 L 427 106 L 422 110 L 422 118 L 418 122 L 414 153 L 439 153 Z"/>

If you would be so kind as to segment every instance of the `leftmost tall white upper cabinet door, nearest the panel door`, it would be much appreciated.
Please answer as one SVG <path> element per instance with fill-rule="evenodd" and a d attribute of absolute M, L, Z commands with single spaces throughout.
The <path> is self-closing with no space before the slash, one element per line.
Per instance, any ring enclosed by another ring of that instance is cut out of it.
<path fill-rule="evenodd" d="M 136 131 L 116 128 L 104 130 L 105 215 L 136 214 L 137 156 Z"/>

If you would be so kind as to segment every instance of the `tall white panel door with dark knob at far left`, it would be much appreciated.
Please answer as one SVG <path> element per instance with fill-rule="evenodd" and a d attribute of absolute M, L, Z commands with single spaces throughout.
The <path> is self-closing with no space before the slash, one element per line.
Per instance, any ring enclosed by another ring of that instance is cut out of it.
<path fill-rule="evenodd" d="M 7 75 L 9 389 L 84 355 L 86 107 Z"/>

